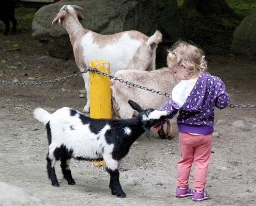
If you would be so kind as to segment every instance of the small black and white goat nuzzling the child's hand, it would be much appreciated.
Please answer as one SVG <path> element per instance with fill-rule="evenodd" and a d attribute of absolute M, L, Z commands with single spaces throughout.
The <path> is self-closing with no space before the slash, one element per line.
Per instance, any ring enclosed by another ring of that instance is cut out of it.
<path fill-rule="evenodd" d="M 69 161 L 104 160 L 110 174 L 112 195 L 125 198 L 119 182 L 118 161 L 129 152 L 132 143 L 142 133 L 150 140 L 150 127 L 163 121 L 170 114 L 152 108 L 143 110 L 137 103 L 129 100 L 129 105 L 139 112 L 130 119 L 94 119 L 77 110 L 64 107 L 50 114 L 37 108 L 34 117 L 46 125 L 49 152 L 47 155 L 48 177 L 53 186 L 59 186 L 54 165 L 61 160 L 64 178 L 68 184 L 75 184 L 71 176 Z"/>

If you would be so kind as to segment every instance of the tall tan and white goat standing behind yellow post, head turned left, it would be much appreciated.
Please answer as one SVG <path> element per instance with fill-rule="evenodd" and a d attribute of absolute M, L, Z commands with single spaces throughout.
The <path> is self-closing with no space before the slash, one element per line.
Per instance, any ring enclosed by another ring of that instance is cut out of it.
<path fill-rule="evenodd" d="M 91 60 L 110 62 L 110 74 L 119 70 L 155 70 L 156 48 L 162 41 L 162 34 L 156 31 L 147 37 L 139 31 L 124 31 L 114 35 L 100 35 L 83 28 L 80 23 L 84 17 L 77 5 L 65 5 L 55 15 L 52 22 L 63 25 L 73 47 L 74 58 L 80 71 L 88 68 Z M 87 102 L 83 109 L 89 112 L 89 75 L 83 74 Z"/>

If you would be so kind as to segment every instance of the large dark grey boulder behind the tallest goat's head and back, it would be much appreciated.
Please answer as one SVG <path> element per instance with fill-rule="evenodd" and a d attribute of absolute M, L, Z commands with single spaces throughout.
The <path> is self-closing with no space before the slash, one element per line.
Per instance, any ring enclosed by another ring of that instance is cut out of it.
<path fill-rule="evenodd" d="M 176 0 L 62 0 L 40 8 L 33 20 L 32 35 L 46 43 L 49 53 L 58 58 L 73 58 L 66 29 L 51 26 L 54 15 L 63 5 L 79 5 L 84 8 L 83 26 L 95 32 L 109 35 L 126 30 L 138 30 L 147 36 L 156 29 L 163 33 L 164 43 L 172 43 L 178 37 Z"/>

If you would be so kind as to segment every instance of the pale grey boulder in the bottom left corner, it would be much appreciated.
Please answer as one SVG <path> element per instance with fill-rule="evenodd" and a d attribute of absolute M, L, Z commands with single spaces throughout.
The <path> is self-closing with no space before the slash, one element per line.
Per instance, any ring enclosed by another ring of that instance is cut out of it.
<path fill-rule="evenodd" d="M 44 202 L 33 194 L 26 192 L 23 188 L 0 182 L 0 205 L 17 206 L 33 205 L 43 206 Z"/>

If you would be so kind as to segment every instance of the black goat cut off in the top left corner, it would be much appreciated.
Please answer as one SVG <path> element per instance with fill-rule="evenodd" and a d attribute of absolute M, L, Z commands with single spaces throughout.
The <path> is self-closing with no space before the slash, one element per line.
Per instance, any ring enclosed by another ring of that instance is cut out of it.
<path fill-rule="evenodd" d="M 14 10 L 16 8 L 16 1 L 2 0 L 0 7 L 0 20 L 5 24 L 4 35 L 8 35 L 10 30 L 10 21 L 12 22 L 12 32 L 16 32 L 17 20 L 14 17 Z"/>

